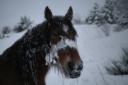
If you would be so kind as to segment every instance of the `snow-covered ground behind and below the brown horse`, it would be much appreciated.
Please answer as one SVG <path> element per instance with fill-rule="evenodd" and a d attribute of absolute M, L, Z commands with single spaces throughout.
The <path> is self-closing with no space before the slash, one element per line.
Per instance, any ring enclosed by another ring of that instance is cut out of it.
<path fill-rule="evenodd" d="M 84 69 L 78 79 L 65 79 L 52 68 L 47 77 L 46 85 L 128 85 L 128 76 L 109 75 L 105 66 L 111 60 L 120 59 L 121 48 L 128 47 L 128 30 L 112 33 L 105 37 L 96 26 L 77 25 L 78 49 Z M 12 34 L 0 40 L 0 54 L 19 39 L 25 32 Z"/>

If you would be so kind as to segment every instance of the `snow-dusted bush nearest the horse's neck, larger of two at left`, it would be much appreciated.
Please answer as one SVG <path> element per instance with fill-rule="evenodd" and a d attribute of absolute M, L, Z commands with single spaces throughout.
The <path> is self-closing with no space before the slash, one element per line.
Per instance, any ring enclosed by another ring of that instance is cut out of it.
<path fill-rule="evenodd" d="M 20 22 L 14 27 L 14 31 L 15 32 L 24 31 L 30 28 L 31 25 L 32 25 L 32 21 L 28 17 L 26 16 L 21 17 Z"/>

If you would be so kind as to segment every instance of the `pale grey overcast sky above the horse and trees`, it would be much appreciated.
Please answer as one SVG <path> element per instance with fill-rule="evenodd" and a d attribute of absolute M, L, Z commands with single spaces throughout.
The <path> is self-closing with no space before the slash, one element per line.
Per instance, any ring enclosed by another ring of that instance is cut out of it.
<path fill-rule="evenodd" d="M 102 4 L 104 0 L 0 0 L 0 28 L 13 27 L 24 15 L 36 24 L 42 22 L 46 6 L 55 15 L 64 15 L 72 6 L 74 13 L 84 19 L 95 2 Z"/>

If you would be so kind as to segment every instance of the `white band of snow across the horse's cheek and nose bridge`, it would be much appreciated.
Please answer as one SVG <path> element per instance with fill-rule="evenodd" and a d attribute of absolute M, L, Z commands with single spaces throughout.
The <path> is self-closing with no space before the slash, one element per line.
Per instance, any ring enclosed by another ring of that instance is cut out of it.
<path fill-rule="evenodd" d="M 51 47 L 50 54 L 46 55 L 45 60 L 46 60 L 47 64 L 56 63 L 54 61 L 54 59 L 55 58 L 58 59 L 58 53 L 57 52 L 60 49 L 65 49 L 66 47 L 77 49 L 77 43 L 76 43 L 76 41 L 65 39 L 64 37 L 62 37 L 60 42 L 58 42 L 56 45 L 53 45 Z"/>

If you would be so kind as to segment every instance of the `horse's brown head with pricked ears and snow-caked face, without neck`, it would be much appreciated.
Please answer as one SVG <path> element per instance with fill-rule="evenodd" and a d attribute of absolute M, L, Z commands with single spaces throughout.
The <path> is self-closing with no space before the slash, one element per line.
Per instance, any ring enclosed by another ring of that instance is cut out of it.
<path fill-rule="evenodd" d="M 45 9 L 47 29 L 50 32 L 49 56 L 51 60 L 55 59 L 55 65 L 65 77 L 77 78 L 81 74 L 83 63 L 77 50 L 77 33 L 71 23 L 72 17 L 71 7 L 65 16 L 53 16 L 48 7 Z M 50 59 L 46 61 L 49 62 Z"/>

